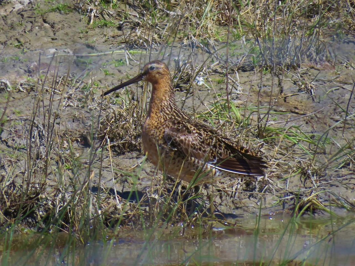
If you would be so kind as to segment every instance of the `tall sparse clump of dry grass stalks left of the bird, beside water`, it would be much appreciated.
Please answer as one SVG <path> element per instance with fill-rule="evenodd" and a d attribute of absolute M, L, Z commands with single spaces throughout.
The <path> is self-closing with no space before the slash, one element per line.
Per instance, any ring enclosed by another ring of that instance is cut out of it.
<path fill-rule="evenodd" d="M 66 134 L 61 135 L 56 128 L 63 98 L 59 97 L 55 101 L 54 95 L 59 86 L 65 89 L 68 79 L 64 79 L 63 83 L 57 82 L 54 75 L 49 93 L 44 86 L 46 80 L 47 76 L 43 86 L 35 86 L 37 93 L 30 118 L 17 116 L 16 123 L 2 119 L 2 128 L 10 136 L 3 141 L 18 148 L 2 154 L 1 169 L 4 175 L 0 179 L 0 222 L 5 227 L 25 225 L 44 232 L 53 229 L 74 230 L 82 238 L 85 234 L 81 234 L 85 230 L 79 232 L 78 229 L 83 224 L 89 227 L 89 224 L 100 223 L 102 216 L 98 213 L 102 203 L 94 200 L 89 189 L 93 172 L 85 171 L 81 158 L 73 149 L 71 138 Z M 25 136 L 22 140 L 13 134 L 18 131 L 17 125 L 22 125 L 21 132 Z M 12 139 L 23 145 L 17 145 Z M 93 158 L 90 158 L 91 164 Z M 22 163 L 24 161 L 26 164 Z M 81 179 L 80 173 L 85 172 Z M 92 215 L 96 218 L 92 219 Z"/>

